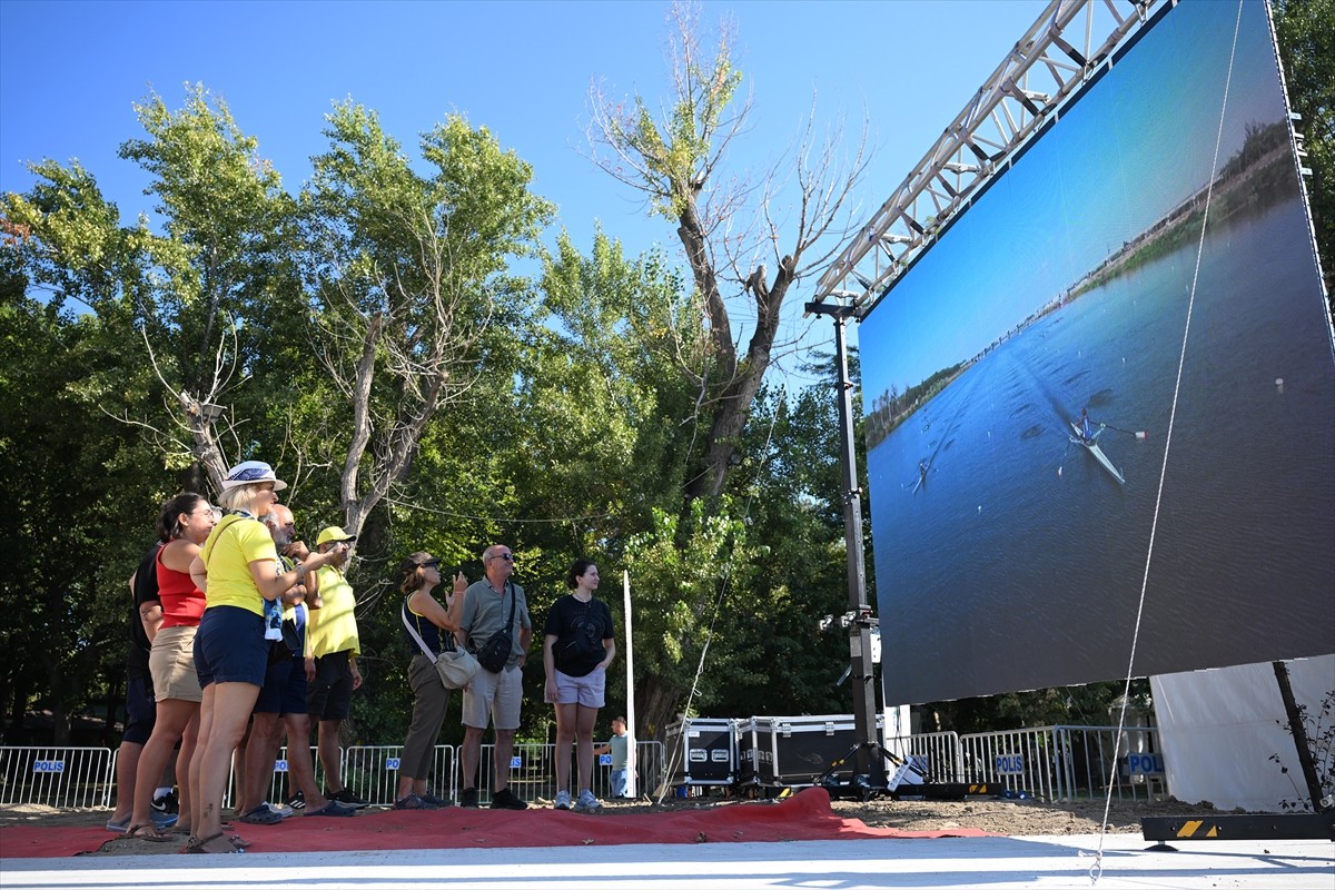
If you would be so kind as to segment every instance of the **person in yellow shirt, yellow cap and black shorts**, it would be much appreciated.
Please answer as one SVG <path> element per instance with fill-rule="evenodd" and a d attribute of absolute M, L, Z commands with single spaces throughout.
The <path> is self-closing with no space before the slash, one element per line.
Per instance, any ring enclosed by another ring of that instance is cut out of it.
<path fill-rule="evenodd" d="M 344 534 L 330 526 L 315 539 L 319 552 L 342 548 L 344 552 L 356 535 Z M 356 656 L 362 647 L 356 638 L 356 594 L 347 583 L 343 567 L 347 559 L 324 566 L 318 571 L 320 607 L 311 610 L 311 650 L 315 655 L 315 679 L 306 693 L 312 721 L 319 721 L 316 742 L 320 766 L 324 769 L 324 795 L 346 806 L 364 807 L 368 802 L 352 794 L 343 785 L 339 763 L 339 727 L 347 719 L 354 690 L 362 686 L 362 671 L 356 670 Z"/>

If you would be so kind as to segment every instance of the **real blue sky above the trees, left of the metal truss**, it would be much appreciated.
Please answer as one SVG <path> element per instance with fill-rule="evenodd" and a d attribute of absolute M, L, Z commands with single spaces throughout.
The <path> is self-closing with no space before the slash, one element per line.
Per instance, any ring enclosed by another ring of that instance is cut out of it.
<path fill-rule="evenodd" d="M 821 127 L 842 116 L 852 136 L 869 119 L 865 221 L 1045 5 L 705 3 L 706 24 L 736 21 L 754 103 L 733 169 L 756 176 L 778 159 L 814 92 Z M 351 96 L 410 151 L 417 133 L 465 113 L 534 165 L 534 189 L 582 250 L 601 220 L 627 252 L 662 244 L 680 262 L 674 228 L 579 153 L 591 81 L 617 96 L 666 95 L 666 3 L 0 0 L 0 189 L 31 185 L 25 161 L 77 157 L 134 220 L 151 200 L 144 172 L 116 157 L 143 135 L 132 103 L 156 91 L 176 108 L 183 84 L 202 81 L 296 191 L 326 147 L 323 115 Z M 790 298 L 788 323 L 789 334 L 809 330 L 812 347 L 832 340 L 828 320 L 801 319 L 814 282 Z"/>

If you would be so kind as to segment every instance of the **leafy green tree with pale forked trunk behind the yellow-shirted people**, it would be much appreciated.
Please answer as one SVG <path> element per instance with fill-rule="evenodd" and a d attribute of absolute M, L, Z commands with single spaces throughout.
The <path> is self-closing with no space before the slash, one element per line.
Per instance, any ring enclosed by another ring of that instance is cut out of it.
<path fill-rule="evenodd" d="M 356 532 L 407 479 L 433 416 L 511 364 L 529 290 L 507 264 L 531 251 L 551 207 L 530 193 L 527 163 L 459 116 L 422 136 L 430 176 L 374 112 L 348 101 L 327 120 L 330 151 L 303 192 L 303 263 L 326 390 L 351 410 L 339 418 L 350 438 L 320 443 L 318 460 L 342 464 L 340 508 Z"/>

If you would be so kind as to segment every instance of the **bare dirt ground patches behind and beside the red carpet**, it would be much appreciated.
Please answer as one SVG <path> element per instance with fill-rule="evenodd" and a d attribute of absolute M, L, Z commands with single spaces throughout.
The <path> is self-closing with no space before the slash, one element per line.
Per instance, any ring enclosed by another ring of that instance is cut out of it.
<path fill-rule="evenodd" d="M 534 806 L 550 802 L 534 802 Z M 662 805 L 642 802 L 607 802 L 603 818 L 615 818 L 627 813 L 654 813 L 680 810 L 684 807 L 736 806 L 741 803 L 728 798 L 690 798 L 685 801 L 665 799 Z M 764 806 L 764 803 L 760 803 Z M 941 831 L 949 829 L 981 829 L 993 834 L 1011 835 L 1063 835 L 1097 834 L 1103 823 L 1103 801 L 1080 802 L 1039 802 L 993 798 L 972 798 L 967 801 L 892 801 L 877 798 L 866 802 L 832 801 L 832 809 L 845 819 L 861 819 L 870 827 L 898 829 L 902 831 Z M 1108 813 L 1108 831 L 1115 834 L 1139 834 L 1140 817 L 1161 815 L 1206 815 L 1215 813 L 1207 806 L 1179 803 L 1176 801 L 1116 801 Z M 100 826 L 107 822 L 107 810 L 56 810 L 39 805 L 0 806 L 0 826 L 43 825 L 43 826 Z M 186 838 L 180 838 L 184 843 Z M 107 843 L 99 850 L 103 855 L 152 855 L 176 853 L 176 843 L 154 843 L 132 841 L 107 834 Z M 85 854 L 87 855 L 87 854 Z M 97 855 L 97 854 L 92 854 Z"/>

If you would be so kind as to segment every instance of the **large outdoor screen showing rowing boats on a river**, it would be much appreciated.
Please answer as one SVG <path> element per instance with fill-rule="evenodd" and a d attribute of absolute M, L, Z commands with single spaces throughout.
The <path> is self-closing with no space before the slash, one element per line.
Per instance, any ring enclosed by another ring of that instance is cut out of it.
<path fill-rule="evenodd" d="M 1335 651 L 1296 167 L 1264 5 L 1188 0 L 882 295 L 858 339 L 886 703 Z"/>

